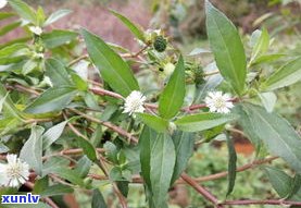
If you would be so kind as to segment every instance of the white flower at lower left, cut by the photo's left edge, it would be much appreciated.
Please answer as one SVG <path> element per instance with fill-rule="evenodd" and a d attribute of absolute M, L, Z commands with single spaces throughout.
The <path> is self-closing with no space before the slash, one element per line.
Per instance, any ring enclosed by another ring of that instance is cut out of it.
<path fill-rule="evenodd" d="M 29 176 L 29 166 L 16 158 L 16 155 L 8 155 L 7 159 L 7 164 L 0 163 L 0 186 L 17 187 L 24 184 Z"/>

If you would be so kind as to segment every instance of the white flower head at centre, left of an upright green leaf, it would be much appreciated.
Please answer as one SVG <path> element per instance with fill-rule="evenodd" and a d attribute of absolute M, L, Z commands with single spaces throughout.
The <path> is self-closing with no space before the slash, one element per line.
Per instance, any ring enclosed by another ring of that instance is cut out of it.
<path fill-rule="evenodd" d="M 143 112 L 145 107 L 143 103 L 146 101 L 146 96 L 140 91 L 134 90 L 125 98 L 124 103 L 124 113 L 128 113 L 131 115 L 135 112 Z"/>

